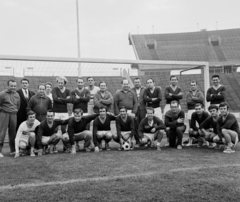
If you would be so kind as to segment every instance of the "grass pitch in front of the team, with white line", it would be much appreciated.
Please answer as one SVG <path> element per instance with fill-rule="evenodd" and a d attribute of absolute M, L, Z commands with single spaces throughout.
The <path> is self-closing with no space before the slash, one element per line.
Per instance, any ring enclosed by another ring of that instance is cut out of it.
<path fill-rule="evenodd" d="M 240 201 L 239 151 L 111 146 L 101 153 L 2 158 L 0 201 Z"/>

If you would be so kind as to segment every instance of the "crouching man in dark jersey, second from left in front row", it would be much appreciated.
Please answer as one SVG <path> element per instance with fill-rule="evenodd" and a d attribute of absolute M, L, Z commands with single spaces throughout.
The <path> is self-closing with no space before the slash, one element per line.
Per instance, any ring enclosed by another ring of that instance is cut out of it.
<path fill-rule="evenodd" d="M 53 148 L 55 145 L 57 145 L 61 138 L 59 133 L 57 133 L 58 126 L 66 125 L 67 123 L 68 119 L 54 119 L 54 112 L 52 110 L 47 111 L 46 120 L 40 123 L 36 137 L 39 156 L 47 152 L 46 148 L 48 146 L 49 153 L 52 154 L 54 152 Z"/>

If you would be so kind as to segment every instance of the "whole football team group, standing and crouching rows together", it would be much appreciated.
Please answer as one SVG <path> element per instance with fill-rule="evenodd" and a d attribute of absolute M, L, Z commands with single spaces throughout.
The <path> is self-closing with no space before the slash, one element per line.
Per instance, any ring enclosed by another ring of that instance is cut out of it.
<path fill-rule="evenodd" d="M 92 77 L 87 78 L 86 86 L 84 79 L 78 78 L 72 91 L 66 87 L 65 77 L 57 77 L 56 81 L 56 87 L 50 82 L 39 84 L 36 94 L 28 89 L 26 78 L 21 80 L 19 90 L 15 80 L 7 82 L 8 88 L 0 92 L 0 157 L 4 157 L 6 134 L 10 154 L 15 158 L 57 153 L 60 140 L 63 151 L 71 154 L 80 151 L 81 141 L 87 152 L 111 150 L 111 140 L 119 144 L 119 150 L 156 147 L 161 151 L 164 136 L 167 137 L 164 146 L 182 149 L 186 124 L 180 104 L 183 92 L 176 76 L 170 77 L 164 94 L 152 78 L 147 79 L 146 87 L 140 78 L 134 78 L 133 88 L 123 79 L 122 88 L 114 97 L 107 90 L 106 82 L 95 86 Z M 212 86 L 207 91 L 208 112 L 204 111 L 205 97 L 197 82 L 191 81 L 189 88 L 185 94 L 189 139 L 184 145 L 205 145 L 223 148 L 225 153 L 235 152 L 240 138 L 239 125 L 234 114 L 229 113 L 226 87 L 220 84 L 219 75 L 212 76 Z M 163 96 L 166 104 L 162 113 Z M 111 130 L 112 121 L 115 121 L 116 133 Z"/>

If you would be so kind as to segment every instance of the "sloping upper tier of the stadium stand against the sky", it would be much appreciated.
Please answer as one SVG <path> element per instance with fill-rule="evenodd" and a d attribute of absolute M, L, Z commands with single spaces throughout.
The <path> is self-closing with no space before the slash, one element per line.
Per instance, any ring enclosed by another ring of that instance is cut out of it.
<path fill-rule="evenodd" d="M 240 28 L 169 34 L 129 34 L 137 59 L 240 65 Z"/>

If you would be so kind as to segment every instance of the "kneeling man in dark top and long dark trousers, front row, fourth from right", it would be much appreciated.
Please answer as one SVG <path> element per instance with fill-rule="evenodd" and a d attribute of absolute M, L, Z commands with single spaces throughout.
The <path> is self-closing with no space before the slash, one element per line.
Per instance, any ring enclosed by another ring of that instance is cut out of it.
<path fill-rule="evenodd" d="M 186 130 L 186 125 L 184 125 L 185 113 L 179 109 L 178 101 L 171 101 L 170 107 L 171 110 L 167 111 L 165 114 L 165 125 L 169 137 L 169 146 L 177 146 L 177 149 L 182 149 L 182 137 Z"/>

